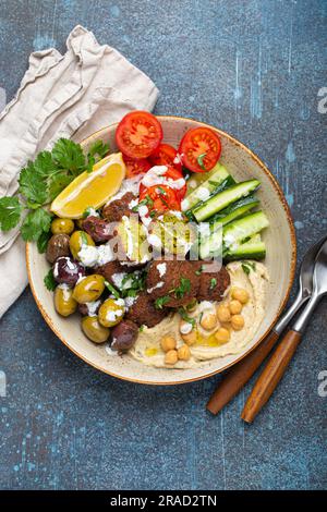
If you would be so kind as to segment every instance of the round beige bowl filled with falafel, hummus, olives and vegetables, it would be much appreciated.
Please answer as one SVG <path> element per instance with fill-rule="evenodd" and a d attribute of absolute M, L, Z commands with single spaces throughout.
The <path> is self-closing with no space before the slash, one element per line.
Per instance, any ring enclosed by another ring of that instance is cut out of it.
<path fill-rule="evenodd" d="M 294 273 L 293 225 L 269 171 L 223 132 L 140 111 L 82 148 L 90 163 L 49 205 L 44 254 L 27 243 L 56 334 L 97 368 L 147 383 L 243 357 Z"/>

